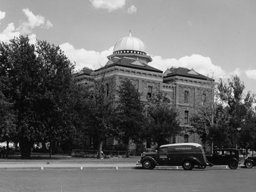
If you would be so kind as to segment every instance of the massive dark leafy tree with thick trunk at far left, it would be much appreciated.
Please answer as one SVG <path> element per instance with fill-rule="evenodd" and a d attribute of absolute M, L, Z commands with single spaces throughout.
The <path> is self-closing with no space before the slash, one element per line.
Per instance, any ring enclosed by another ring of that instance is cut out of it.
<path fill-rule="evenodd" d="M 72 126 L 73 66 L 45 41 L 29 44 L 15 37 L 0 43 L 2 93 L 16 111 L 16 135 L 22 158 L 30 158 L 34 142 L 53 142 L 69 135 Z"/>

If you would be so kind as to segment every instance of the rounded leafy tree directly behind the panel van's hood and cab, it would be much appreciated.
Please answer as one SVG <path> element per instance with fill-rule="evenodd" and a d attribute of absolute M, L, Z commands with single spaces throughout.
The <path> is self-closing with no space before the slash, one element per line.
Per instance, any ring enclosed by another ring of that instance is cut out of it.
<path fill-rule="evenodd" d="M 177 112 L 170 107 L 169 99 L 161 92 L 149 98 L 146 105 L 147 123 L 145 123 L 145 137 L 159 146 L 166 143 L 168 138 L 180 131 Z"/>

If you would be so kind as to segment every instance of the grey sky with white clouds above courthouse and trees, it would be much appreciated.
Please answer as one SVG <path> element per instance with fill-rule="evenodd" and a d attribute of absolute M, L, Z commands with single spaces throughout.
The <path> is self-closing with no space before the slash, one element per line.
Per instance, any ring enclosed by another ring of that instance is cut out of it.
<path fill-rule="evenodd" d="M 138 37 L 153 67 L 239 75 L 256 94 L 256 1 L 1 0 L 0 41 L 19 34 L 59 45 L 76 70 L 98 69 L 121 37 Z"/>

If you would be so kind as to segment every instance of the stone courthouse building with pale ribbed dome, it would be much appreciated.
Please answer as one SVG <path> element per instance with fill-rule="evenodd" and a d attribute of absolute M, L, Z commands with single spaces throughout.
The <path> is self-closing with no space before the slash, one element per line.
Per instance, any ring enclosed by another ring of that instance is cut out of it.
<path fill-rule="evenodd" d="M 77 84 L 90 84 L 94 79 L 100 79 L 104 72 L 105 78 L 114 81 L 114 89 L 118 89 L 124 79 L 132 81 L 142 101 L 160 90 L 169 97 L 170 106 L 179 113 L 182 127 L 179 135 L 170 138 L 170 143 L 201 143 L 197 134 L 189 132 L 192 128 L 189 119 L 195 113 L 195 108 L 213 100 L 213 90 L 209 85 L 212 79 L 194 69 L 170 66 L 162 72 L 151 67 L 149 63 L 152 58 L 147 55 L 145 44 L 131 34 L 116 42 L 113 54 L 107 56 L 107 59 L 107 64 L 100 69 L 82 69 L 76 75 Z"/>

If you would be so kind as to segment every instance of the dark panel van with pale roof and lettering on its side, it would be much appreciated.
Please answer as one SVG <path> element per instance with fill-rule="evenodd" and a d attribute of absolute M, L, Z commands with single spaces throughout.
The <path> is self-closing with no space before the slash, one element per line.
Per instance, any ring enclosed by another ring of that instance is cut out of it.
<path fill-rule="evenodd" d="M 152 170 L 155 166 L 179 166 L 184 170 L 192 170 L 195 165 L 206 166 L 204 149 L 198 143 L 177 143 L 162 145 L 159 151 L 141 154 L 138 164 L 142 168 Z"/>

